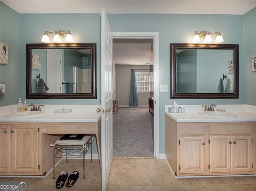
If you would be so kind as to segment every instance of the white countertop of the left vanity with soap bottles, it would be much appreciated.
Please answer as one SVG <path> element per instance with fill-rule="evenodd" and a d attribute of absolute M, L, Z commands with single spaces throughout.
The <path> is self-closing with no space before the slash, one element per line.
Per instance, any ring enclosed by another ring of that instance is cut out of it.
<path fill-rule="evenodd" d="M 4 106 L 0 109 L 1 122 L 98 122 L 101 112 L 96 108 L 100 105 L 44 105 L 41 113 L 29 116 L 6 117 L 11 112 L 16 112 L 17 105 Z M 56 109 L 72 109 L 68 113 L 55 113 Z M 28 108 L 30 110 L 30 108 Z"/>

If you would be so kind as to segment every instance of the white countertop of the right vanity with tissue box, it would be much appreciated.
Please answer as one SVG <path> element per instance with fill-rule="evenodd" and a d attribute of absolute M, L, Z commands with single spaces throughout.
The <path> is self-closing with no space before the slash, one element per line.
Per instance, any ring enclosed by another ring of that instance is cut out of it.
<path fill-rule="evenodd" d="M 216 109 L 226 109 L 226 112 L 236 115 L 236 118 L 225 118 L 216 116 L 204 116 L 198 114 L 204 110 L 202 105 L 180 105 L 186 108 L 185 113 L 170 113 L 165 105 L 165 114 L 176 122 L 256 122 L 256 106 L 237 104 L 237 105 L 217 105 Z"/>

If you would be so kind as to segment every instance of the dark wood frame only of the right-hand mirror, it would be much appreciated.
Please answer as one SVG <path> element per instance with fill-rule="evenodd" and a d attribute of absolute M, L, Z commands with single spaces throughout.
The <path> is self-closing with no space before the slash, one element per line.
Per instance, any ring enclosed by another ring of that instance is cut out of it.
<path fill-rule="evenodd" d="M 176 50 L 177 49 L 223 49 L 233 50 L 234 56 L 234 93 L 176 93 Z M 238 98 L 238 44 L 170 44 L 170 98 Z"/>

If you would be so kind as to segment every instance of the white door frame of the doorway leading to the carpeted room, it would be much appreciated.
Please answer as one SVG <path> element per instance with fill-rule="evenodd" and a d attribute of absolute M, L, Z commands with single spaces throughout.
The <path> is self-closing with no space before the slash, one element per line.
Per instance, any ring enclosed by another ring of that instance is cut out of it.
<path fill-rule="evenodd" d="M 160 155 L 159 143 L 159 32 L 112 32 L 113 38 L 151 38 L 154 50 L 154 156 L 165 159 Z"/>

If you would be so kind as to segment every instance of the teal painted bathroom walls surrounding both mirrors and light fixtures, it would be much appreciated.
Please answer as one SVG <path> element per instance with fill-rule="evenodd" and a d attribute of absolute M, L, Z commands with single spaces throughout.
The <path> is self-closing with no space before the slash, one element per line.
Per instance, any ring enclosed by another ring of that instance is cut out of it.
<path fill-rule="evenodd" d="M 214 102 L 217 105 L 256 104 L 256 73 L 250 71 L 250 57 L 256 53 L 255 12 L 254 8 L 244 16 L 108 14 L 108 18 L 114 32 L 159 32 L 159 83 L 168 84 L 168 89 L 170 89 L 170 43 L 191 43 L 196 30 L 220 31 L 226 44 L 239 44 L 239 98 L 176 99 L 176 102 L 178 104 L 210 104 Z M 8 15 L 8 17 L 2 15 Z M 2 3 L 0 39 L 6 41 L 14 49 L 10 49 L 12 55 L 9 55 L 9 65 L 1 66 L 1 80 L 6 81 L 7 89 L 11 88 L 11 91 L 6 93 L 6 100 L 1 104 L 15 104 L 19 96 L 22 97 L 22 100 L 26 98 L 25 46 L 26 43 L 40 43 L 45 30 L 70 30 L 76 43 L 97 43 L 98 98 L 95 100 L 32 99 L 28 102 L 35 104 L 100 104 L 100 14 L 17 14 Z M 172 101 L 170 91 L 168 93 L 160 92 L 160 153 L 165 152 L 164 105 L 172 104 Z"/>

